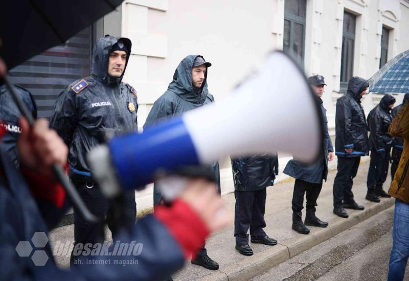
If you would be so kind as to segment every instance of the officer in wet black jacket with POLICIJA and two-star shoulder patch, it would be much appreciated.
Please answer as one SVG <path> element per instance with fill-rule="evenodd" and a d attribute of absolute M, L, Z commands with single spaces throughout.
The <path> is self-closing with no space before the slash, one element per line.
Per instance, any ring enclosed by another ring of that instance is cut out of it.
<path fill-rule="evenodd" d="M 71 180 L 90 212 L 99 218 L 107 216 L 113 236 L 119 228 L 134 224 L 135 194 L 126 193 L 113 207 L 92 180 L 85 157 L 107 137 L 137 130 L 137 92 L 122 82 L 130 53 L 128 38 L 100 38 L 93 54 L 91 76 L 75 81 L 61 93 L 50 119 L 50 127 L 69 147 Z M 84 221 L 74 208 L 74 238 L 76 243 L 97 243 L 104 239 L 103 227 Z M 76 262 L 74 256 L 71 262 Z"/>

